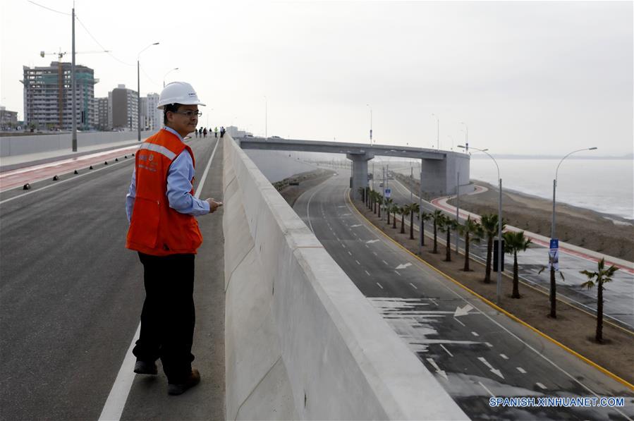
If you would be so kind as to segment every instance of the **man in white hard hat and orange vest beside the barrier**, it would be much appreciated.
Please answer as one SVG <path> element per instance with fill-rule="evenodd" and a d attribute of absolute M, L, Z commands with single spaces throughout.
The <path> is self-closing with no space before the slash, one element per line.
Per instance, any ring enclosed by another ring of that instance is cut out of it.
<path fill-rule="evenodd" d="M 205 104 L 190 84 L 164 87 L 157 108 L 163 109 L 165 127 L 138 150 L 126 197 L 126 248 L 138 252 L 145 284 L 134 372 L 157 374 L 156 360 L 161 358 L 171 395 L 200 382 L 200 373 L 191 366 L 194 256 L 202 243 L 195 216 L 222 205 L 193 195 L 194 155 L 183 138 L 196 131 L 199 105 Z"/>

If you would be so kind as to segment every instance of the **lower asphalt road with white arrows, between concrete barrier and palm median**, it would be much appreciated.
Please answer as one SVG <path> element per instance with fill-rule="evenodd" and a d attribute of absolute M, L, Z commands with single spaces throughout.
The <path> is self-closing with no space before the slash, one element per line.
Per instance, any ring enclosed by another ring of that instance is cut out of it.
<path fill-rule="evenodd" d="M 294 209 L 470 417 L 634 417 L 634 394 L 626 386 L 497 313 L 398 248 L 365 224 L 347 202 L 348 190 L 348 174 L 340 174 L 304 193 Z M 626 406 L 492 408 L 492 396 L 624 396 Z"/>

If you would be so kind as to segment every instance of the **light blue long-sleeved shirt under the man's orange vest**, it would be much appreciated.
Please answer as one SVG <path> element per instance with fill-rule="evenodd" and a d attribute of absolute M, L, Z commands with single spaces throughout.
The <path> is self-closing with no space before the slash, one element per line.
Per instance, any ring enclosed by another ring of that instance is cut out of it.
<path fill-rule="evenodd" d="M 178 136 L 183 142 L 183 138 L 173 128 L 165 127 L 167 130 Z M 136 170 L 136 168 L 135 168 Z M 132 182 L 126 195 L 126 214 L 128 214 L 128 222 L 132 217 L 132 209 L 134 208 L 134 200 L 136 197 L 136 171 L 132 171 Z M 209 202 L 197 199 L 190 192 L 192 190 L 191 179 L 194 177 L 194 163 L 191 155 L 187 150 L 183 150 L 169 166 L 167 171 L 167 200 L 169 207 L 180 212 L 193 216 L 200 216 L 209 213 Z"/>

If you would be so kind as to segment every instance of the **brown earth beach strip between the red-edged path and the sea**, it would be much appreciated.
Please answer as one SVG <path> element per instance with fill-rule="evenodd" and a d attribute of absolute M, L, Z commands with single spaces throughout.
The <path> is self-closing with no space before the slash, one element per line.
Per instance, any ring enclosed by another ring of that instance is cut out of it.
<path fill-rule="evenodd" d="M 499 190 L 482 181 L 472 182 L 489 190 L 461 195 L 461 209 L 479 215 L 497 214 Z M 456 199 L 449 203 L 456 206 Z M 502 217 L 508 225 L 550 237 L 552 201 L 503 189 Z M 557 203 L 556 237 L 566 243 L 634 262 L 634 226 L 632 221 L 621 216 Z"/>

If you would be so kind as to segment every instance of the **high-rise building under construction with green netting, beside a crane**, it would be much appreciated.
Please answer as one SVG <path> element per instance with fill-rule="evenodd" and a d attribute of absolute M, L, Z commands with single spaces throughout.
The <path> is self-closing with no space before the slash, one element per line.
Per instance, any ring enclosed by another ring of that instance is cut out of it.
<path fill-rule="evenodd" d="M 51 62 L 48 67 L 23 66 L 24 123 L 40 130 L 71 130 L 73 95 L 71 63 Z M 90 130 L 96 119 L 95 73 L 75 65 L 75 121 L 79 130 Z"/>

